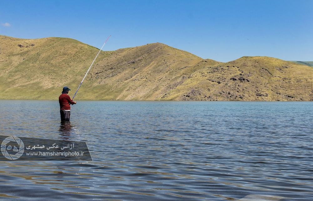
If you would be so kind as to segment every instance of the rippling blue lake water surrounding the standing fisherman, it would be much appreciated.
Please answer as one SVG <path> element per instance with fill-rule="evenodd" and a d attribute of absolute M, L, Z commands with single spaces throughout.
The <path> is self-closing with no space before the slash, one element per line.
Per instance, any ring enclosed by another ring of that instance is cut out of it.
<path fill-rule="evenodd" d="M 86 141 L 90 162 L 0 162 L 0 200 L 313 200 L 312 102 L 0 100 L 0 135 Z"/>

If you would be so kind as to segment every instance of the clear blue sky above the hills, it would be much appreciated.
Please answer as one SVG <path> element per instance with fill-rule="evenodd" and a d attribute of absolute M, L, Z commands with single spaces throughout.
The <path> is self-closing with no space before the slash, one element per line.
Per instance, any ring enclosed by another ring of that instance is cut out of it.
<path fill-rule="evenodd" d="M 0 35 L 68 37 L 104 50 L 161 42 L 202 58 L 313 61 L 313 0 L 6 1 Z"/>

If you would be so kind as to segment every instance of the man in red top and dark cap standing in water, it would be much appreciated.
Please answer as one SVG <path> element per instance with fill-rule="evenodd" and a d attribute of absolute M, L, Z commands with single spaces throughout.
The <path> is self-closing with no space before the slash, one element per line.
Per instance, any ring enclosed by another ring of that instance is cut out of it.
<path fill-rule="evenodd" d="M 69 121 L 71 115 L 70 104 L 76 104 L 76 101 L 71 100 L 69 95 L 67 95 L 69 91 L 68 87 L 63 87 L 62 94 L 59 96 L 61 121 Z"/>

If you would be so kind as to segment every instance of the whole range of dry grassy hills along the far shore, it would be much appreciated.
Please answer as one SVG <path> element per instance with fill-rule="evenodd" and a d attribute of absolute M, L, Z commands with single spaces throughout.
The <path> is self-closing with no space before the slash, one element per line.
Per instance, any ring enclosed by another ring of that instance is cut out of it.
<path fill-rule="evenodd" d="M 99 49 L 0 36 L 0 98 L 74 94 Z M 313 68 L 271 57 L 202 59 L 162 43 L 102 51 L 76 100 L 313 100 Z"/>

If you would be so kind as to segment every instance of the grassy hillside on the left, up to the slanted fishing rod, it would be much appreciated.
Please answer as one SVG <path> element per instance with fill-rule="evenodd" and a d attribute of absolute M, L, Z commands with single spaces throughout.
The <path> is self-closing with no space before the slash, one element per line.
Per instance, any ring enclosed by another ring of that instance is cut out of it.
<path fill-rule="evenodd" d="M 0 36 L 0 98 L 54 99 L 64 85 L 74 90 L 98 51 L 69 38 Z"/>

